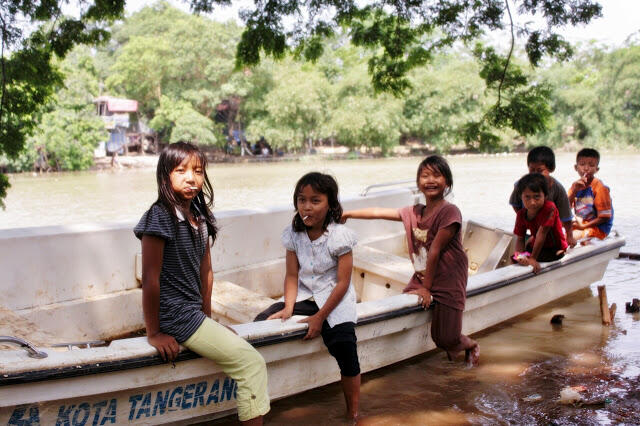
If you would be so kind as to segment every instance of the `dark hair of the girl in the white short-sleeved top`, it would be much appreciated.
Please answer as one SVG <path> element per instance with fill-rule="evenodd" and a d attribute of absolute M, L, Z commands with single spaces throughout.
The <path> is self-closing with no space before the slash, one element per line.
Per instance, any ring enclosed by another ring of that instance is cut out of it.
<path fill-rule="evenodd" d="M 298 194 L 307 185 L 311 185 L 314 191 L 319 192 L 327 196 L 329 201 L 329 211 L 322 224 L 322 229 L 327 229 L 327 226 L 331 222 L 339 223 L 342 217 L 342 206 L 338 201 L 338 183 L 336 180 L 324 173 L 311 172 L 302 176 L 298 183 L 296 183 L 296 189 L 293 191 L 293 207 L 295 207 L 296 214 L 293 216 L 291 226 L 296 232 L 302 232 L 307 229 L 307 225 L 304 224 L 300 214 L 298 213 Z"/>

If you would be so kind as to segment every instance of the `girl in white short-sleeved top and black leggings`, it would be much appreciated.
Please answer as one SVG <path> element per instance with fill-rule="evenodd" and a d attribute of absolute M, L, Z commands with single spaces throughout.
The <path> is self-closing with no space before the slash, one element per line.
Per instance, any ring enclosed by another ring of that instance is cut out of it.
<path fill-rule="evenodd" d="M 305 339 L 322 335 L 340 367 L 347 415 L 357 418 L 360 364 L 356 346 L 356 294 L 351 285 L 355 235 L 339 223 L 338 184 L 329 175 L 308 173 L 296 184 L 296 214 L 282 233 L 287 250 L 284 301 L 271 305 L 256 321 L 292 315 L 309 325 Z"/>

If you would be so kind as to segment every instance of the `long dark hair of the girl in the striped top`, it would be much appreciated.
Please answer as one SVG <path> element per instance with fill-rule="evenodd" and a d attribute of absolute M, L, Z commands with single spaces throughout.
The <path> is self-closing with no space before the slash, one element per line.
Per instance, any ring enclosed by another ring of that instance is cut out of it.
<path fill-rule="evenodd" d="M 180 200 L 171 187 L 169 175 L 173 169 L 189 157 L 196 158 L 200 163 L 204 172 L 204 183 L 200 193 L 191 201 L 190 208 L 185 209 L 182 207 Z M 211 212 L 213 208 L 213 187 L 207 176 L 207 157 L 200 151 L 200 148 L 192 143 L 182 141 L 167 146 L 160 153 L 160 158 L 158 159 L 156 180 L 158 182 L 158 199 L 156 203 L 163 205 L 176 223 L 178 222 L 176 209 L 179 210 L 187 220 L 192 217 L 196 217 L 198 222 L 204 220 L 209 236 L 211 237 L 211 244 L 213 244 L 218 234 L 216 218 Z M 189 230 L 192 230 L 191 226 L 189 226 Z"/>

